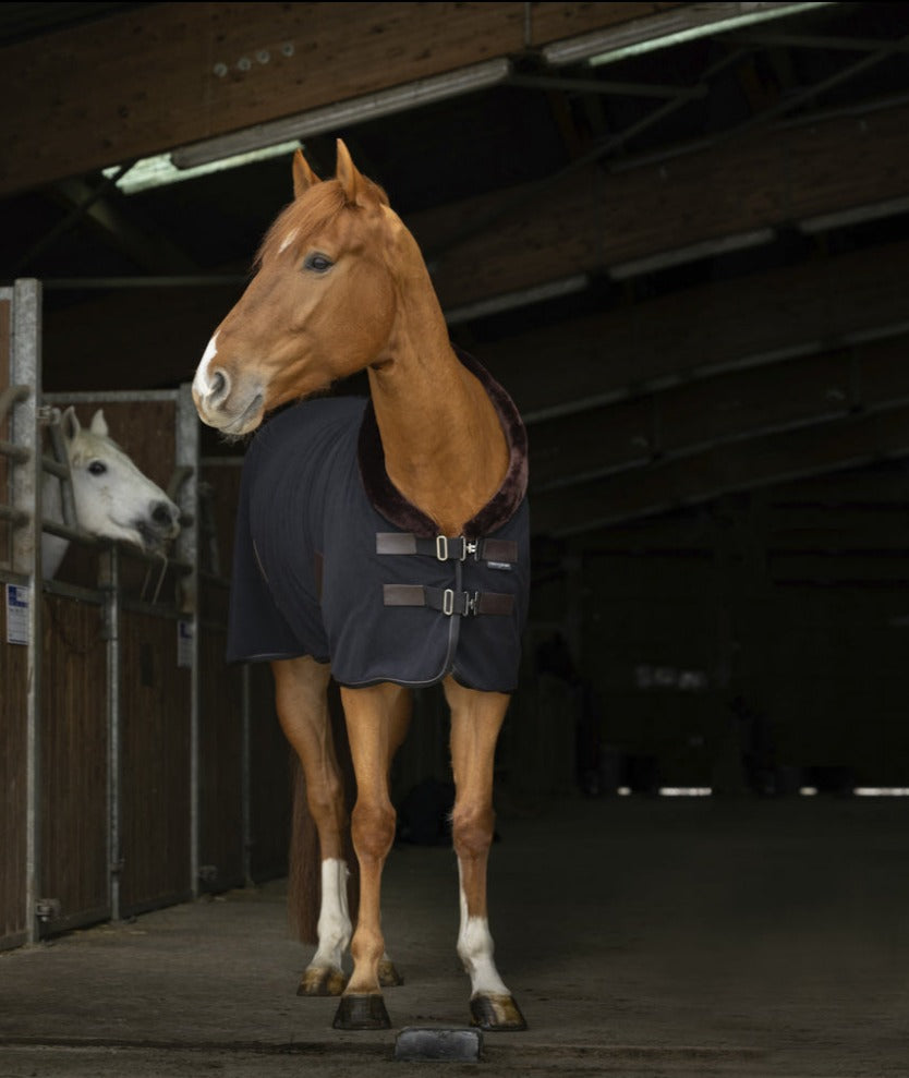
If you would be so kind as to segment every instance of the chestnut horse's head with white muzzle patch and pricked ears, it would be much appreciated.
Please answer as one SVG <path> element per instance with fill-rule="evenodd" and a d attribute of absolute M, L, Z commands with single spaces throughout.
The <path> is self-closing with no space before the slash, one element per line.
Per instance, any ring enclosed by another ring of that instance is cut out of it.
<path fill-rule="evenodd" d="M 425 274 L 385 192 L 357 171 L 340 140 L 335 179 L 320 181 L 296 150 L 293 186 L 294 201 L 271 226 L 255 276 L 193 381 L 201 419 L 228 435 L 254 431 L 271 409 L 381 363 L 402 274 Z"/>

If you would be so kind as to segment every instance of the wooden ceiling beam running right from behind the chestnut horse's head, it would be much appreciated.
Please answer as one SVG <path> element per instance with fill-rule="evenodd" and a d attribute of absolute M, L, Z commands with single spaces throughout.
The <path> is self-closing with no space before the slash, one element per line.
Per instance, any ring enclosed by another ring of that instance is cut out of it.
<path fill-rule="evenodd" d="M 411 215 L 444 306 L 909 194 L 909 107 L 765 126 Z"/>

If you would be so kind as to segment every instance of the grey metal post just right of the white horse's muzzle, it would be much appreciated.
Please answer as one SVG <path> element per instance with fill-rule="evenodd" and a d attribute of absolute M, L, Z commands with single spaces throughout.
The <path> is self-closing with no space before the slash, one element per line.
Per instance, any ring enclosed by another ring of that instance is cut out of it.
<path fill-rule="evenodd" d="M 192 667 L 190 671 L 190 881 L 193 897 L 198 897 L 199 880 L 199 632 L 198 613 L 198 415 L 191 387 L 183 385 L 177 398 L 177 467 L 186 469 L 178 500 L 184 524 L 177 540 L 177 555 L 192 566 L 183 579 L 184 616 L 192 623 Z"/>

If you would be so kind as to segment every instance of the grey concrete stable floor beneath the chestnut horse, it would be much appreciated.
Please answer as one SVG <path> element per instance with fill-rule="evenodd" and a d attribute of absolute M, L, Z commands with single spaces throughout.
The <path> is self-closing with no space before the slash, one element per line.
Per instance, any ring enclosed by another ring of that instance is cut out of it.
<path fill-rule="evenodd" d="M 478 1064 L 392 1057 L 463 1028 L 457 874 L 402 846 L 384 923 L 395 1029 L 294 994 L 280 882 L 0 955 L 0 1076 L 909 1076 L 909 803 L 623 798 L 505 804 L 499 968 L 528 1018 Z"/>

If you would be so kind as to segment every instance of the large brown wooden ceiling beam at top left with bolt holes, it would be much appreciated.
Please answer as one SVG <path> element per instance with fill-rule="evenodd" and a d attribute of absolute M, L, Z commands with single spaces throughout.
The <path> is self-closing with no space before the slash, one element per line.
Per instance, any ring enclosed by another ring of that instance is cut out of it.
<path fill-rule="evenodd" d="M 0 49 L 0 195 L 677 7 L 145 4 Z"/>

